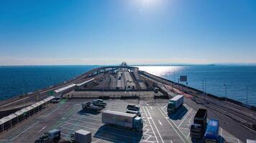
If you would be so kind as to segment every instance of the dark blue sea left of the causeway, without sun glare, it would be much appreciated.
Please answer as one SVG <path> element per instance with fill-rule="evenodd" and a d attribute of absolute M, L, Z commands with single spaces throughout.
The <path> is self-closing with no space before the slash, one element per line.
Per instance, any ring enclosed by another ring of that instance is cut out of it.
<path fill-rule="evenodd" d="M 0 99 L 49 87 L 96 66 L 0 66 Z"/>

